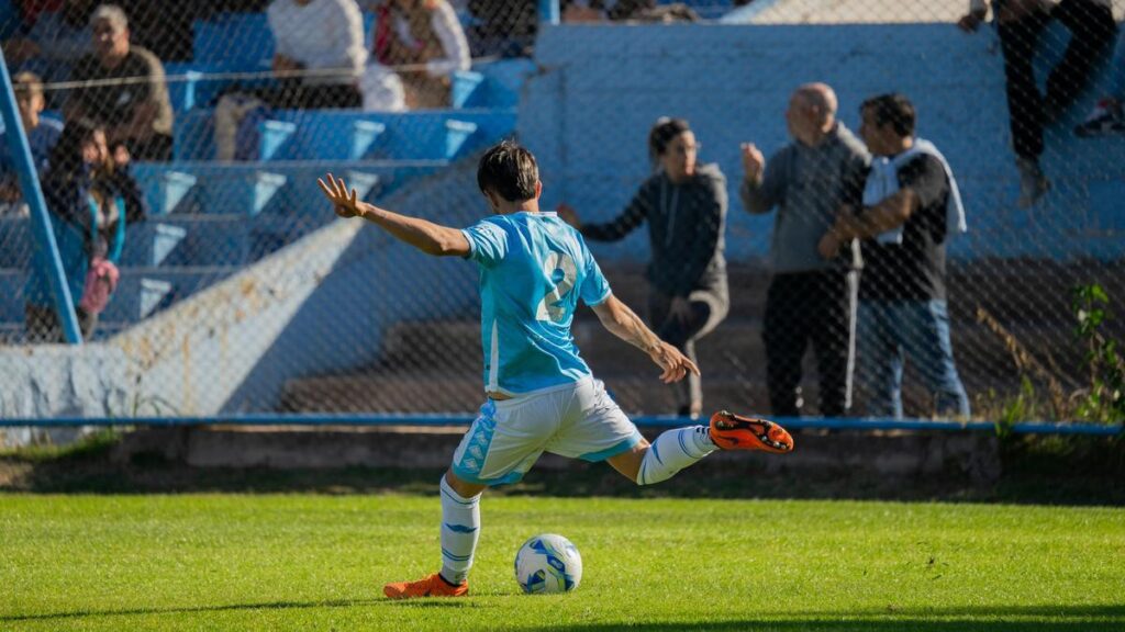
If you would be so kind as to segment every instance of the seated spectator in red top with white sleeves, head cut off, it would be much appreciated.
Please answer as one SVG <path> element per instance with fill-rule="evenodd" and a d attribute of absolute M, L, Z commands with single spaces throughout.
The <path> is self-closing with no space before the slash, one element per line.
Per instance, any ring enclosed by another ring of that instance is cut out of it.
<path fill-rule="evenodd" d="M 469 70 L 469 43 L 446 0 L 386 0 L 377 8 L 375 58 L 399 69 L 406 107 L 449 107 L 452 73 Z M 414 66 L 414 67 L 410 67 Z"/>

